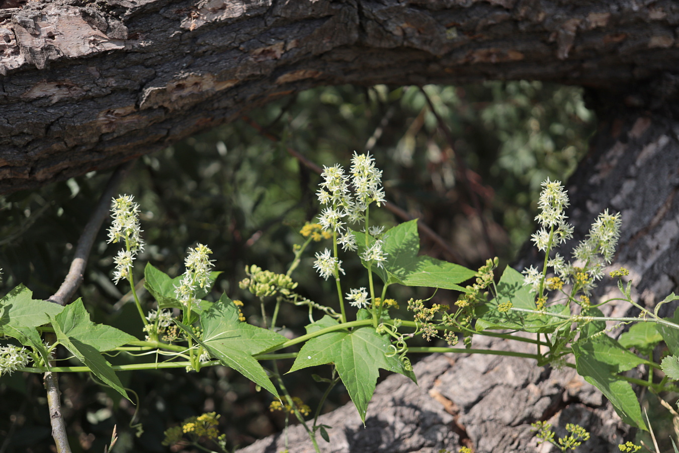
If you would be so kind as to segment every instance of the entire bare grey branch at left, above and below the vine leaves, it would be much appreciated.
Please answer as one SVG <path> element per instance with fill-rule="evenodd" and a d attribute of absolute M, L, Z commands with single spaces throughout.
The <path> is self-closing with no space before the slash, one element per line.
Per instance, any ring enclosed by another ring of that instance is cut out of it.
<path fill-rule="evenodd" d="M 64 278 L 64 283 L 62 283 L 58 291 L 48 299 L 50 302 L 64 306 L 67 304 L 67 301 L 70 301 L 71 297 L 73 297 L 73 293 L 75 293 L 75 290 L 83 280 L 83 272 L 85 271 L 85 266 L 87 265 L 88 256 L 90 255 L 92 244 L 94 244 L 94 239 L 101 228 L 101 224 L 109 213 L 110 200 L 113 198 L 113 194 L 117 190 L 118 185 L 120 185 L 120 181 L 127 175 L 133 164 L 134 161 L 122 164 L 113 172 L 113 175 L 111 175 L 94 212 L 92 212 L 92 215 L 90 216 L 90 220 L 87 225 L 85 225 L 83 234 L 78 240 L 69 273 L 66 278 Z M 51 335 L 54 336 L 54 333 Z M 52 342 L 54 341 L 55 339 L 52 338 Z M 54 365 L 54 363 L 50 363 L 50 366 L 52 365 Z M 59 391 L 57 374 L 49 371 L 46 372 L 44 382 L 45 390 L 47 391 L 48 407 L 50 407 L 50 424 L 52 424 L 52 437 L 56 444 L 56 451 L 57 453 L 71 453 L 71 446 L 69 446 L 69 438 L 66 433 L 66 424 L 61 414 L 61 392 Z"/>

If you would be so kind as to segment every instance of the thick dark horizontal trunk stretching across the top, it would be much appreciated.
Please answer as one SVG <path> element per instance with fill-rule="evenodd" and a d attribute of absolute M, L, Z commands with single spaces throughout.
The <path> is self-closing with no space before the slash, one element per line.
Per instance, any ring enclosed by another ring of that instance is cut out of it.
<path fill-rule="evenodd" d="M 608 88 L 679 69 L 670 0 L 2 5 L 0 193 L 117 165 L 321 84 Z"/>

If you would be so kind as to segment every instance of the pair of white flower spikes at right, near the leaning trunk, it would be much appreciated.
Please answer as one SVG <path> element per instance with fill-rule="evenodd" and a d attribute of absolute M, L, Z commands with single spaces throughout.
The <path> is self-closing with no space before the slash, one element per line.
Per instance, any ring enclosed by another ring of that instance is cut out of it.
<path fill-rule="evenodd" d="M 542 228 L 532 235 L 532 241 L 541 251 L 562 244 L 573 236 L 573 226 L 566 222 L 564 211 L 568 206 L 568 195 L 560 181 L 543 182 L 543 192 L 540 193 L 540 214 L 535 219 Z M 587 238 L 582 240 L 572 252 L 576 261 L 575 266 L 564 257 L 555 253 L 547 260 L 547 268 L 553 269 L 555 274 L 564 282 L 576 282 L 585 294 L 594 287 L 594 281 L 604 275 L 604 264 L 610 264 L 620 236 L 620 214 L 609 214 L 608 209 L 601 213 L 591 225 Z M 549 231 L 547 230 L 549 228 Z M 550 232 L 553 231 L 552 243 L 549 244 Z M 523 271 L 524 285 L 530 285 L 538 290 L 543 279 L 543 273 L 530 266 Z"/>

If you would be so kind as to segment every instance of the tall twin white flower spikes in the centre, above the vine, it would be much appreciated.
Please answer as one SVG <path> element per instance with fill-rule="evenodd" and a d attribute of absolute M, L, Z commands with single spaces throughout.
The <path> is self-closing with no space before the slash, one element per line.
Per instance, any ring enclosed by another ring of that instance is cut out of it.
<path fill-rule="evenodd" d="M 354 151 L 351 160 L 351 175 L 344 173 L 341 165 L 323 168 L 323 182 L 318 190 L 318 201 L 327 206 L 318 217 L 318 223 L 325 231 L 332 231 L 339 235 L 337 244 L 343 250 L 356 251 L 356 237 L 346 228 L 346 221 L 357 223 L 365 217 L 365 211 L 371 202 L 377 202 L 378 206 L 384 203 L 384 188 L 382 187 L 382 170 L 375 168 L 375 160 L 370 154 L 359 155 Z M 350 190 L 353 188 L 353 193 Z M 346 219 L 346 221 L 344 221 Z M 369 233 L 376 236 L 382 230 L 370 228 Z M 369 250 L 361 256 L 365 261 L 373 261 L 377 266 L 382 266 L 386 260 L 386 253 L 382 251 L 382 242 L 377 240 Z M 330 251 L 316 253 L 314 268 L 324 278 L 342 270 L 342 261 L 331 257 Z"/>

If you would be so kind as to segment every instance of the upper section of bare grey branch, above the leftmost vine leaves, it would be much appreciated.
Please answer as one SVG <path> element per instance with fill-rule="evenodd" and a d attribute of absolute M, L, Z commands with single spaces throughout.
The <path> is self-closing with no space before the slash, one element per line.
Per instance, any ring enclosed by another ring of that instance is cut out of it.
<path fill-rule="evenodd" d="M 96 235 L 101 228 L 101 224 L 104 219 L 109 215 L 109 209 L 111 209 L 111 198 L 113 198 L 117 187 L 120 182 L 130 171 L 134 165 L 134 160 L 122 164 L 113 172 L 109 183 L 104 189 L 103 194 L 99 198 L 99 202 L 96 208 L 90 216 L 90 220 L 83 230 L 83 234 L 78 240 L 77 247 L 75 247 L 75 253 L 73 255 L 73 261 L 71 262 L 71 268 L 66 278 L 64 278 L 64 283 L 61 284 L 59 289 L 50 297 L 48 300 L 59 305 L 66 305 L 70 302 L 73 293 L 78 289 L 80 283 L 83 280 L 83 273 L 85 272 L 85 267 L 87 266 L 87 260 L 90 256 L 90 250 L 92 249 L 92 244 L 96 239 Z"/>

